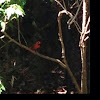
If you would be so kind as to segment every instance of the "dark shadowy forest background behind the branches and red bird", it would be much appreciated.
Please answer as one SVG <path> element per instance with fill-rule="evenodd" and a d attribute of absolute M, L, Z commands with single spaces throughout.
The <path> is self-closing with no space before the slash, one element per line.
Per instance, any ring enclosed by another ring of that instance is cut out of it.
<path fill-rule="evenodd" d="M 72 0 L 65 0 L 70 9 Z M 31 47 L 37 41 L 41 41 L 38 52 L 41 54 L 61 58 L 61 44 L 58 37 L 58 12 L 62 8 L 56 2 L 49 0 L 27 0 L 24 10 L 25 16 L 19 18 L 21 42 Z M 66 48 L 66 58 L 78 83 L 81 80 L 81 56 L 79 48 L 80 35 L 74 25 L 68 29 L 69 17 L 62 17 L 62 31 Z M 80 22 L 81 24 L 81 22 Z M 17 40 L 17 21 L 13 21 L 13 28 L 7 29 L 9 35 Z M 26 42 L 25 42 L 26 41 Z M 1 41 L 0 41 L 0 44 Z M 87 41 L 87 68 L 90 66 L 90 45 Z M 57 94 L 57 91 L 64 88 L 70 94 L 77 93 L 67 71 L 58 64 L 42 59 L 20 48 L 14 43 L 9 43 L 0 49 L 0 75 L 6 88 L 4 94 Z M 11 86 L 12 76 L 15 77 L 13 87 Z M 89 76 L 89 75 L 88 75 Z M 88 89 L 89 89 L 88 77 Z"/>

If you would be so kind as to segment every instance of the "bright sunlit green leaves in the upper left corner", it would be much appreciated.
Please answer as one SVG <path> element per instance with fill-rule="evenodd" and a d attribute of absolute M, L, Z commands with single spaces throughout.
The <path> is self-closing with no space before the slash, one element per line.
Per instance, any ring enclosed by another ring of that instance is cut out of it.
<path fill-rule="evenodd" d="M 0 0 L 0 27 L 1 32 L 5 31 L 6 22 L 24 16 L 23 7 L 26 0 Z"/>

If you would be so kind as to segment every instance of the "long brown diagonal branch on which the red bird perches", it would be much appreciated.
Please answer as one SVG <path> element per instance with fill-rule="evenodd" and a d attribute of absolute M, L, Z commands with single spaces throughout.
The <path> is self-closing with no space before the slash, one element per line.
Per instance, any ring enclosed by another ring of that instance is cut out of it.
<path fill-rule="evenodd" d="M 20 46 L 21 48 L 24 48 L 24 49 L 28 50 L 29 52 L 31 52 L 32 54 L 37 55 L 37 56 L 39 56 L 39 57 L 41 57 L 41 58 L 44 58 L 44 59 L 47 59 L 47 60 L 56 62 L 56 63 L 58 63 L 59 65 L 61 65 L 61 67 L 67 69 L 69 75 L 71 76 L 71 79 L 72 79 L 73 83 L 75 84 L 75 87 L 76 87 L 78 93 L 79 93 L 79 94 L 81 93 L 80 87 L 79 87 L 78 83 L 76 82 L 76 79 L 75 79 L 73 73 L 71 72 L 70 68 L 69 68 L 66 64 L 64 64 L 64 63 L 63 63 L 62 61 L 60 61 L 59 59 L 51 58 L 51 57 L 42 55 L 42 54 L 40 54 L 40 53 L 38 53 L 38 52 L 35 52 L 35 51 L 31 50 L 31 49 L 28 48 L 27 46 L 25 46 L 25 45 L 23 45 L 23 44 L 17 42 L 17 41 L 14 40 L 14 39 L 12 39 L 6 32 L 4 32 L 4 35 L 5 35 L 5 37 L 7 37 L 8 39 L 10 39 L 11 42 L 14 42 L 15 44 L 17 44 L 17 45 Z"/>

